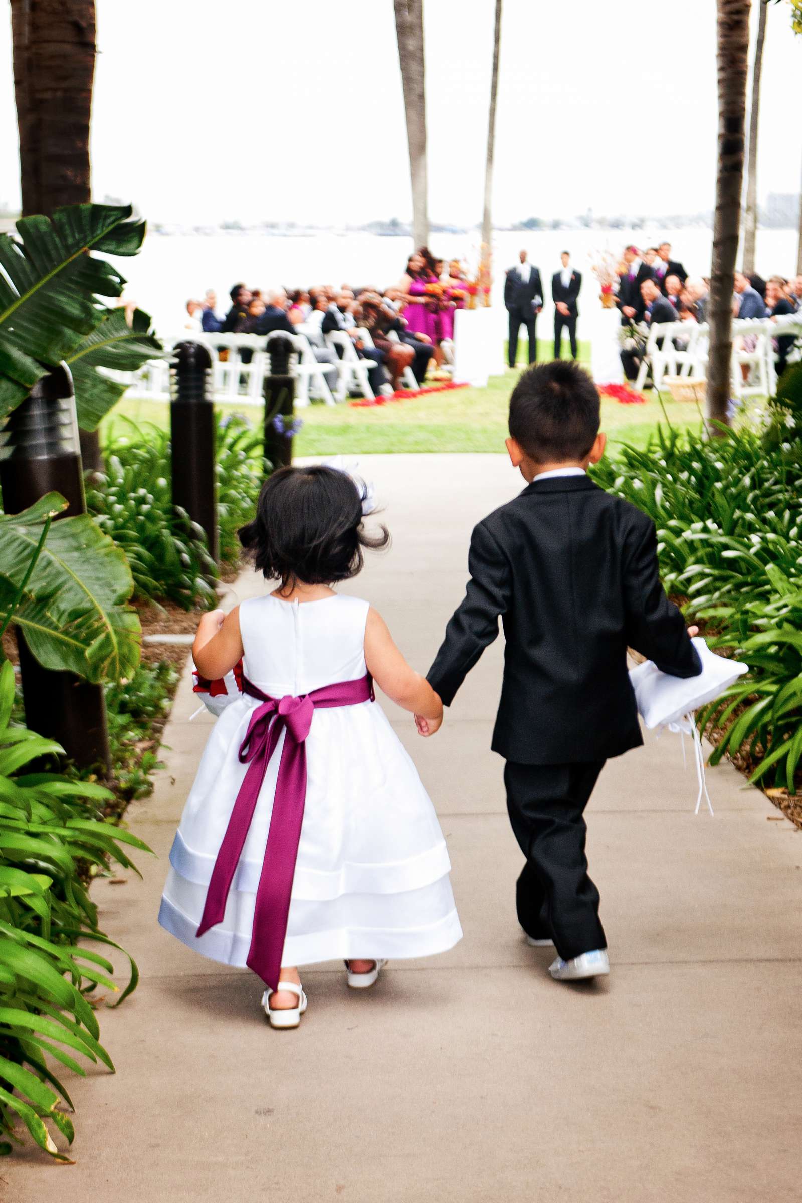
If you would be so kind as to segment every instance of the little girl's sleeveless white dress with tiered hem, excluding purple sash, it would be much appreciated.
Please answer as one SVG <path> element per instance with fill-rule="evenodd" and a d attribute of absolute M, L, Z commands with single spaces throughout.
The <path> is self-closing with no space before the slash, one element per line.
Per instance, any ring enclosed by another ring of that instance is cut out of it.
<path fill-rule="evenodd" d="M 368 603 L 351 597 L 239 608 L 244 675 L 274 698 L 367 672 Z M 170 853 L 162 928 L 196 952 L 245 965 L 284 736 L 273 754 L 228 893 L 225 918 L 197 926 L 248 765 L 238 759 L 253 710 L 243 695 L 216 721 Z M 307 800 L 284 965 L 428 956 L 462 937 L 448 853 L 434 807 L 378 701 L 316 710 L 305 741 Z"/>

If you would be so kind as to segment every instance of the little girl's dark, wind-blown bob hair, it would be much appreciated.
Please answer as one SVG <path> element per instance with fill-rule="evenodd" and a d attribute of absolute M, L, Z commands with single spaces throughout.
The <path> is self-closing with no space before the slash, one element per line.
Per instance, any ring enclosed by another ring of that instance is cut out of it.
<path fill-rule="evenodd" d="M 279 468 L 262 485 L 256 517 L 237 534 L 268 581 L 284 587 L 346 581 L 362 570 L 363 547 L 390 543 L 384 526 L 379 534 L 366 533 L 366 496 L 364 485 L 335 468 Z"/>

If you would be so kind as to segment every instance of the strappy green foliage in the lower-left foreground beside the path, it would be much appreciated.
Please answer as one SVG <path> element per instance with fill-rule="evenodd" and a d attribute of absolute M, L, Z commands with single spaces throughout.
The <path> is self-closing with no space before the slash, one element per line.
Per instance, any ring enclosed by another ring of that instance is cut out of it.
<path fill-rule="evenodd" d="M 113 966 L 96 946 L 119 946 L 99 929 L 81 869 L 106 871 L 113 860 L 136 871 L 125 846 L 149 849 L 103 822 L 107 789 L 26 771 L 61 749 L 10 725 L 13 695 L 6 662 L 0 668 L 0 1154 L 19 1139 L 14 1121 L 22 1120 L 42 1149 L 66 1161 L 53 1136 L 72 1143 L 65 1109 L 72 1101 L 47 1057 L 82 1075 L 85 1060 L 114 1069 L 99 1042 L 91 997 L 97 986 L 118 991 Z M 131 962 L 120 1002 L 137 977 Z"/>

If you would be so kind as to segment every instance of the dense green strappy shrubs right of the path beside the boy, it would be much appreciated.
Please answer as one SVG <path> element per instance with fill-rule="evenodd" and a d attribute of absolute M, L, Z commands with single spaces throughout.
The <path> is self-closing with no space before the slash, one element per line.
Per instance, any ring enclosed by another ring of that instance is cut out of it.
<path fill-rule="evenodd" d="M 664 583 L 689 620 L 750 665 L 724 703 L 697 716 L 714 728 L 711 763 L 738 754 L 753 781 L 792 793 L 802 758 L 802 426 L 785 431 L 767 446 L 750 431 L 709 442 L 659 429 L 646 450 L 626 446 L 595 472 L 654 520 Z"/>

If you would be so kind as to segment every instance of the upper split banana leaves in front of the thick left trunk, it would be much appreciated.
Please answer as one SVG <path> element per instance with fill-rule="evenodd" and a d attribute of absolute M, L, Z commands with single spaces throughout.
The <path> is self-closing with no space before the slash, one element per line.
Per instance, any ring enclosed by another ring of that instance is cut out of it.
<path fill-rule="evenodd" d="M 0 420 L 63 360 L 76 381 L 78 422 L 95 429 L 124 389 L 97 368 L 132 371 L 160 354 L 150 319 L 101 298 L 125 285 L 97 253 L 136 255 L 145 224 L 130 205 L 70 205 L 0 235 Z"/>

